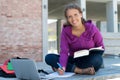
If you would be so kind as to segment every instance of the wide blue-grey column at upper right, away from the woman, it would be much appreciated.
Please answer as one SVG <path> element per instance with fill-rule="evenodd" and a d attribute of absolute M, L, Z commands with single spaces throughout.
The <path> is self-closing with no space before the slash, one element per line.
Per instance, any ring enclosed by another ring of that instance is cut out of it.
<path fill-rule="evenodd" d="M 118 11 L 117 0 L 109 1 L 106 5 L 107 10 L 107 31 L 118 32 Z"/>

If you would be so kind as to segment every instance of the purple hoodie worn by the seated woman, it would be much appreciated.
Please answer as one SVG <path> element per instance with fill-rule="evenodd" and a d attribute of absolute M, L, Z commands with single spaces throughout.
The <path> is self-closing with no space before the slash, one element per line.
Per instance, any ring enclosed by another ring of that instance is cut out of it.
<path fill-rule="evenodd" d="M 85 32 L 80 37 L 72 34 L 71 26 L 64 25 L 61 32 L 60 64 L 66 67 L 68 56 L 73 56 L 75 51 L 99 46 L 104 48 L 103 38 L 91 20 L 85 22 Z"/>

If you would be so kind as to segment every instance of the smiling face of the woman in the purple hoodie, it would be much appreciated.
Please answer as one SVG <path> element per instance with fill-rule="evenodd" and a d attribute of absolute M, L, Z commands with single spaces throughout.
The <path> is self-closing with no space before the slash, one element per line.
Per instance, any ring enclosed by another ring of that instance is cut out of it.
<path fill-rule="evenodd" d="M 73 26 L 78 27 L 82 24 L 81 17 L 82 13 L 80 13 L 77 9 L 68 9 L 66 12 L 67 21 Z"/>

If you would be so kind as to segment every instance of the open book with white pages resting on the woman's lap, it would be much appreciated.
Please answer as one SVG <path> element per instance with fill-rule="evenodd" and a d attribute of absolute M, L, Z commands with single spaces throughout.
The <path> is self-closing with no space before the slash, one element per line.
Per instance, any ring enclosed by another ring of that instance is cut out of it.
<path fill-rule="evenodd" d="M 104 51 L 104 49 L 102 48 L 102 46 L 100 46 L 100 47 L 96 47 L 96 48 L 90 48 L 89 50 L 85 49 L 85 50 L 76 51 L 74 53 L 74 58 L 87 56 L 87 55 L 89 55 L 90 51 Z"/>

